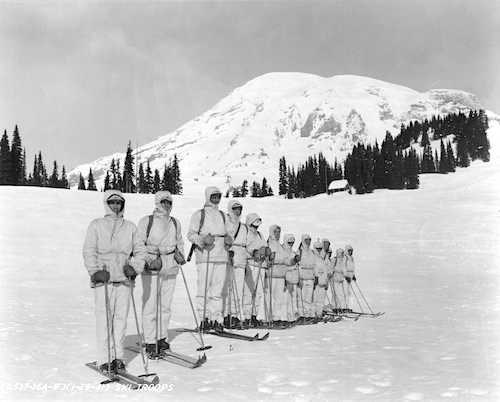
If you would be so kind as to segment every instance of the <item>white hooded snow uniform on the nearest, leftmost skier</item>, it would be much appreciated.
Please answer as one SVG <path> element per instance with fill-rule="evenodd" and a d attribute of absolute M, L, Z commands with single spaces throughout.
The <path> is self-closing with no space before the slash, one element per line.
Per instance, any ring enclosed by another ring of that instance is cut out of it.
<path fill-rule="evenodd" d="M 123 273 L 123 267 L 128 262 L 137 273 L 141 273 L 144 268 L 145 247 L 138 239 L 136 226 L 123 219 L 125 206 L 115 214 L 107 204 L 110 197 L 120 197 L 124 200 L 120 191 L 108 190 L 104 193 L 105 216 L 90 223 L 83 245 L 83 260 L 91 276 L 104 267 L 110 274 L 108 299 L 111 360 L 123 360 L 123 342 L 130 304 L 129 281 Z M 130 257 L 132 253 L 133 257 Z M 95 300 L 97 360 L 104 363 L 108 360 L 105 286 L 97 284 L 92 287 Z"/>

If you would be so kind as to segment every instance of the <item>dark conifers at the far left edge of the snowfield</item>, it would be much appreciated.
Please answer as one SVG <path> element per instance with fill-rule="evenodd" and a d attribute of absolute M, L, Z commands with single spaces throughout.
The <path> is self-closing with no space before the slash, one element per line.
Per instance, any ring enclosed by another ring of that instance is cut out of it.
<path fill-rule="evenodd" d="M 62 166 L 59 174 L 59 164 L 54 161 L 49 175 L 41 151 L 35 154 L 33 171 L 28 175 L 26 163 L 26 149 L 22 146 L 16 124 L 12 141 L 9 140 L 7 130 L 4 130 L 0 140 L 0 185 L 69 188 L 65 166 Z"/>

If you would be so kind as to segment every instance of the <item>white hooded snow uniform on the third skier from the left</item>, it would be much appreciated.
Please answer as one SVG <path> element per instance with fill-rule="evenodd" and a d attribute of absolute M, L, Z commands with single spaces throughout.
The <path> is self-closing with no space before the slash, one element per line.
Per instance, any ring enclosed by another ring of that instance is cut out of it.
<path fill-rule="evenodd" d="M 231 231 L 231 225 L 226 221 L 223 212 L 218 205 L 210 201 L 212 194 L 219 193 L 217 187 L 207 187 L 205 190 L 205 220 L 201 224 L 201 211 L 196 211 L 191 217 L 189 223 L 188 239 L 196 244 L 196 271 L 197 271 L 197 293 L 196 301 L 200 318 L 203 319 L 204 299 L 205 299 L 205 280 L 207 278 L 207 300 L 206 300 L 206 318 L 211 321 L 222 323 L 222 289 L 226 279 L 226 265 L 228 253 L 224 248 L 224 236 Z M 211 234 L 215 236 L 214 247 L 210 252 L 202 249 L 202 237 Z"/>

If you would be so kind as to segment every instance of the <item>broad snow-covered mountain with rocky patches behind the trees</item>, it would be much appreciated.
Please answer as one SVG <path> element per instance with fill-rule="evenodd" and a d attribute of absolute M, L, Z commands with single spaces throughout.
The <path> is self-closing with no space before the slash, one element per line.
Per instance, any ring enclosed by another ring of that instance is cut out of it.
<path fill-rule="evenodd" d="M 139 162 L 161 169 L 177 153 L 184 191 L 211 183 L 226 187 L 266 176 L 277 183 L 278 162 L 302 162 L 322 151 L 341 160 L 357 142 L 397 134 L 401 123 L 480 108 L 473 94 L 450 89 L 418 92 L 355 75 L 324 78 L 303 73 L 269 73 L 236 88 L 213 108 L 177 130 L 140 146 Z M 124 138 L 125 146 L 127 139 Z M 112 158 L 101 157 L 69 174 L 94 177 L 102 184 Z M 123 166 L 123 165 L 122 165 Z"/>

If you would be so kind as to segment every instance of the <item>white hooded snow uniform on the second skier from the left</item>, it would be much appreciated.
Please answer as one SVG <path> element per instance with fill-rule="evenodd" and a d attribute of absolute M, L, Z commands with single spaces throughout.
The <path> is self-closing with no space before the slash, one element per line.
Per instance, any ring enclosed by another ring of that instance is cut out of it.
<path fill-rule="evenodd" d="M 177 248 L 184 254 L 184 240 L 179 220 L 171 217 L 161 205 L 161 201 L 172 196 L 168 191 L 159 191 L 155 194 L 155 209 L 153 224 L 147 236 L 149 216 L 143 217 L 137 227 L 141 242 L 146 245 L 147 263 L 151 263 L 158 256 L 161 258 L 162 268 L 159 277 L 156 272 L 145 270 L 142 274 L 142 326 L 146 343 L 156 342 L 156 303 L 159 300 L 158 339 L 168 338 L 168 325 L 171 316 L 172 298 L 175 282 L 179 273 L 179 265 L 174 259 Z M 175 222 L 174 222 L 175 219 Z M 157 280 L 160 282 L 158 293 Z"/>

